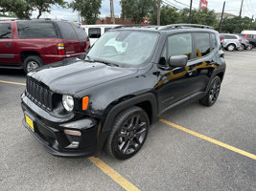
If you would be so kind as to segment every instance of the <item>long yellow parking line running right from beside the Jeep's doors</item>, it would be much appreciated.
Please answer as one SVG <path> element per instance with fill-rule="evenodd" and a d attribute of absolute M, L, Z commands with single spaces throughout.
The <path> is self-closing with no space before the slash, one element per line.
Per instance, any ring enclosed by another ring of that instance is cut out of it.
<path fill-rule="evenodd" d="M 247 157 L 247 158 L 256 159 L 256 155 L 247 153 L 247 152 L 245 152 L 245 151 L 243 151 L 243 150 L 241 150 L 241 149 L 238 149 L 238 148 L 236 148 L 236 147 L 233 147 L 233 146 L 230 146 L 230 145 L 228 145 L 228 144 L 225 144 L 225 143 L 223 143 L 223 142 L 221 142 L 221 141 L 219 141 L 219 140 L 216 140 L 216 139 L 214 139 L 214 138 L 208 138 L 208 137 L 206 137 L 206 136 L 203 136 L 203 135 L 201 135 L 201 134 L 198 134 L 197 132 L 194 132 L 194 131 L 191 131 L 191 130 L 186 129 L 186 128 L 184 128 L 184 127 L 181 127 L 181 126 L 179 126 L 179 125 L 176 125 L 175 123 L 172 123 L 172 122 L 170 122 L 170 121 L 168 121 L 168 120 L 165 120 L 165 119 L 163 119 L 163 118 L 161 118 L 160 121 L 163 122 L 163 123 L 165 123 L 165 124 L 167 124 L 167 125 L 170 125 L 170 126 L 172 126 L 172 127 L 175 127 L 176 129 L 179 129 L 179 130 L 181 130 L 181 131 L 184 131 L 184 132 L 186 132 L 186 133 L 188 133 L 188 134 L 191 134 L 191 135 L 196 136 L 196 137 L 198 137 L 198 138 L 205 139 L 205 140 L 210 141 L 210 142 L 212 142 L 212 143 L 215 143 L 215 144 L 217 144 L 217 145 L 219 145 L 219 146 L 221 146 L 221 147 L 224 147 L 224 148 L 226 148 L 226 149 L 229 149 L 229 150 L 231 150 L 231 151 L 234 151 L 234 152 L 236 152 L 236 153 L 239 153 L 239 154 L 241 154 L 241 155 L 244 155 L 244 156 Z"/>

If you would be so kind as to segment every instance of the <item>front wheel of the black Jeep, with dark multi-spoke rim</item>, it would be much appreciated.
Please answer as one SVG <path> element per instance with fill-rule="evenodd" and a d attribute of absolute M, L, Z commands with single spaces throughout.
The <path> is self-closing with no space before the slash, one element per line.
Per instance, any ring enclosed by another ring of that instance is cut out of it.
<path fill-rule="evenodd" d="M 106 152 L 116 159 L 134 156 L 144 144 L 150 127 L 146 112 L 139 107 L 124 110 L 114 121 L 106 140 Z"/>

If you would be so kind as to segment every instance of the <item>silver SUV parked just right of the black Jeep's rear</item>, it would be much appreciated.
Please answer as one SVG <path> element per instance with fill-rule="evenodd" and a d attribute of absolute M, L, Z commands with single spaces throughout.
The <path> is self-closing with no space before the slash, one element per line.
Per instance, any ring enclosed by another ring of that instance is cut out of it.
<path fill-rule="evenodd" d="M 221 33 L 221 47 L 227 51 L 235 51 L 241 48 L 242 39 L 236 34 Z"/>

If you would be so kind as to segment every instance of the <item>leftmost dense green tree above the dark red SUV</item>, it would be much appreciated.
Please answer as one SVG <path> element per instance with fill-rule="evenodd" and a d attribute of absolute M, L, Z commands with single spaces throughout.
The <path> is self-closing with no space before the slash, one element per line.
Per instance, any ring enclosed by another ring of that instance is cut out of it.
<path fill-rule="evenodd" d="M 26 0 L 1 0 L 0 11 L 11 11 L 18 18 L 30 18 L 33 9 Z"/>

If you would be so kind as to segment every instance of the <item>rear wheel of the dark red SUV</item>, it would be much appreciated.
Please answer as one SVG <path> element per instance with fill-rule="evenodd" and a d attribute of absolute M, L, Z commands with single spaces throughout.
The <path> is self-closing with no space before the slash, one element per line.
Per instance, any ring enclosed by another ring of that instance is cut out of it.
<path fill-rule="evenodd" d="M 26 57 L 26 59 L 23 62 L 24 71 L 27 74 L 35 70 L 36 68 L 42 66 L 43 64 L 44 63 L 41 57 L 37 55 L 30 55 Z"/>

